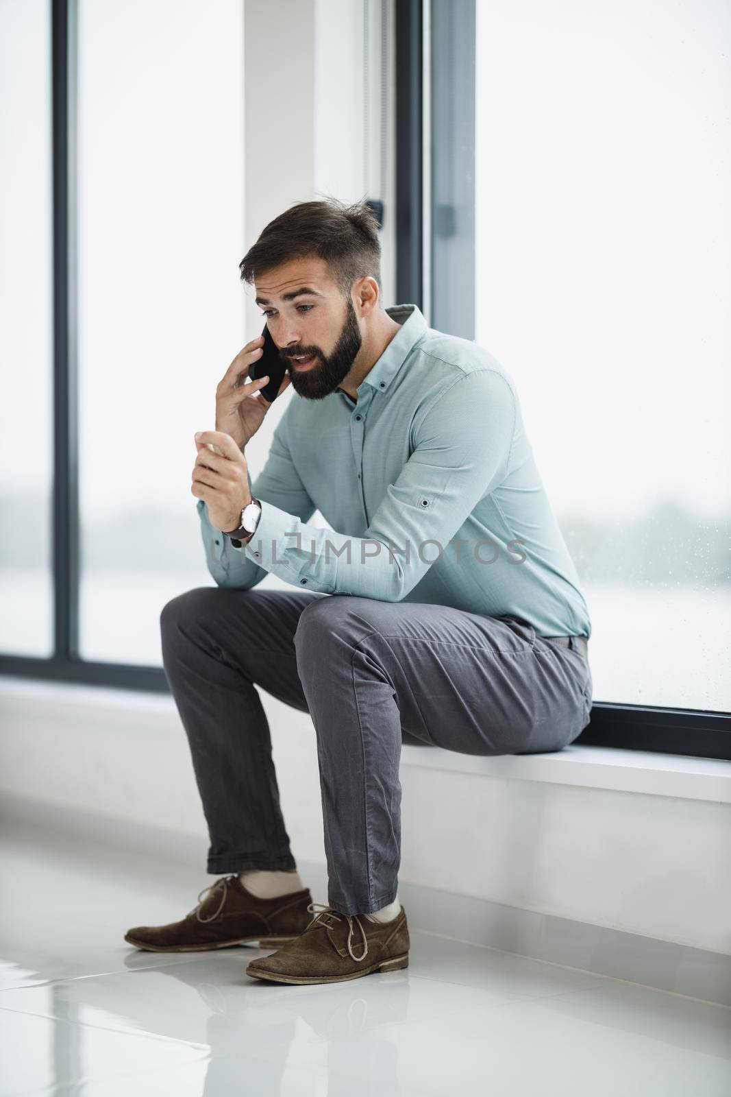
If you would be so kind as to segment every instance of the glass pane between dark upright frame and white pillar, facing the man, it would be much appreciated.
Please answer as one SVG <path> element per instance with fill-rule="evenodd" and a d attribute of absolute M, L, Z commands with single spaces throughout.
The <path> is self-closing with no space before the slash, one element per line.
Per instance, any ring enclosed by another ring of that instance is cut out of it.
<path fill-rule="evenodd" d="M 79 371 L 87 659 L 160 665 L 210 586 L 191 471 L 245 342 L 243 4 L 79 4 Z"/>

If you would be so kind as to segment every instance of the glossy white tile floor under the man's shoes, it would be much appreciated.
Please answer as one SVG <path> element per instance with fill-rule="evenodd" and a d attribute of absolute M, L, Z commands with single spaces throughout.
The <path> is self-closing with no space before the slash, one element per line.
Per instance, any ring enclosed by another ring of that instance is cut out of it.
<path fill-rule="evenodd" d="M 720 1006 L 415 930 L 406 971 L 266 984 L 244 974 L 253 948 L 125 945 L 191 909 L 205 872 L 27 827 L 2 852 L 2 1095 L 731 1092 Z"/>

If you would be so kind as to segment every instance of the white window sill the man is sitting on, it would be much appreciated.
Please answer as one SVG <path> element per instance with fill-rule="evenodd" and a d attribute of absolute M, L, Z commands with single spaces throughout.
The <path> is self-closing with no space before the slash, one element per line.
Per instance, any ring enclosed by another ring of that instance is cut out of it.
<path fill-rule="evenodd" d="M 118 727 L 140 715 L 157 727 L 178 730 L 173 699 L 164 693 L 66 685 L 0 676 L 0 723 L 19 709 L 66 723 L 78 717 L 104 727 Z M 44 713 L 43 710 L 47 710 Z M 454 773 L 548 781 L 591 789 L 613 789 L 686 800 L 731 803 L 731 764 L 713 758 L 662 755 L 614 747 L 569 746 L 556 754 L 477 757 L 441 747 L 404 746 L 402 766 Z"/>

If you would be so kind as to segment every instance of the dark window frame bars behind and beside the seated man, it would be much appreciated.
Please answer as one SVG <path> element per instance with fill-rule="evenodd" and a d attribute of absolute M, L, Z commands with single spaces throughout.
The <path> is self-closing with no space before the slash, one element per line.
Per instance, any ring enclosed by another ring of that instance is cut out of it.
<path fill-rule="evenodd" d="M 473 140 L 470 154 L 466 104 L 473 65 L 467 64 L 469 21 L 475 49 L 475 0 L 425 0 L 431 27 L 446 54 L 431 36 L 432 103 L 438 97 L 436 117 L 452 126 L 452 154 L 458 157 L 464 188 L 455 211 L 445 208 L 446 184 L 438 165 L 431 161 L 432 208 L 430 261 L 447 268 L 470 261 L 473 234 L 469 233 L 469 194 L 473 188 Z M 435 10 L 436 9 L 436 10 Z M 396 215 L 397 297 L 423 307 L 423 0 L 396 0 Z M 77 26 L 76 0 L 53 0 L 53 204 L 54 204 L 54 484 L 53 568 L 55 653 L 48 658 L 0 655 L 0 674 L 21 678 L 107 686 L 117 689 L 169 693 L 162 667 L 111 664 L 79 656 L 79 484 L 78 484 L 78 351 L 77 351 Z M 461 64 L 447 69 L 449 50 Z M 447 83 L 452 81 L 452 86 Z M 461 176 L 460 176 L 461 178 Z M 472 190 L 473 197 L 473 190 Z M 434 205 L 436 204 L 436 217 Z M 434 224 L 436 222 L 437 231 Z M 433 282 L 433 280 L 432 280 Z M 433 315 L 442 302 L 431 302 Z M 454 313 L 452 314 L 454 316 Z M 469 331 L 469 314 L 458 317 L 461 335 Z M 473 325 L 473 316 L 471 318 Z M 473 338 L 473 330 L 471 336 Z M 731 714 L 686 709 L 596 702 L 589 726 L 574 740 L 581 745 L 651 750 L 696 758 L 731 759 Z"/>

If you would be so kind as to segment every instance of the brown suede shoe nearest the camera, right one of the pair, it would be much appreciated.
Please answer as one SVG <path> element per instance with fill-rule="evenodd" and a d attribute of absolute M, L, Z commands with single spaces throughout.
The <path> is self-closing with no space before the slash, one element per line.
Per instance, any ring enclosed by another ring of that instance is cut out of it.
<path fill-rule="evenodd" d="M 392 921 L 370 921 L 346 915 L 322 903 L 310 903 L 316 914 L 307 929 L 289 945 L 252 960 L 247 975 L 273 983 L 344 983 L 374 971 L 398 971 L 409 965 L 409 927 L 403 907 Z M 357 927 L 357 930 L 356 930 Z"/>

